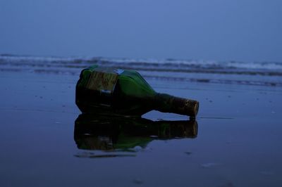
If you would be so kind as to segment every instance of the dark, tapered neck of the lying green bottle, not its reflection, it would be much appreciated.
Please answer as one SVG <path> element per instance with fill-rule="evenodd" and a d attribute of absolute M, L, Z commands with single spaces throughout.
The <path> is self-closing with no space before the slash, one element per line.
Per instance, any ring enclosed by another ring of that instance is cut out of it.
<path fill-rule="evenodd" d="M 187 98 L 178 98 L 166 93 L 157 93 L 155 96 L 155 110 L 171 112 L 179 115 L 196 117 L 199 110 L 199 102 Z"/>

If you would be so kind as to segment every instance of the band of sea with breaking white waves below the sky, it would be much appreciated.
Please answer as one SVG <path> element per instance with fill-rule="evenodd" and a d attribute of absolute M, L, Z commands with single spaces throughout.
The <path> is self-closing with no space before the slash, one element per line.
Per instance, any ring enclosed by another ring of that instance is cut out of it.
<path fill-rule="evenodd" d="M 104 67 L 134 69 L 147 79 L 282 86 L 281 62 L 0 55 L 0 71 L 79 75 L 83 68 L 94 64 Z"/>

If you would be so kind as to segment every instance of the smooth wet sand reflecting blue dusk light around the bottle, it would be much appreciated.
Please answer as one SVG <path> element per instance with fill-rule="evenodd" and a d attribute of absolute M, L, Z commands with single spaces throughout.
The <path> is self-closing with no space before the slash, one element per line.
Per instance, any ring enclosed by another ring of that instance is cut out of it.
<path fill-rule="evenodd" d="M 107 150 L 95 143 L 110 145 L 109 130 L 75 136 L 78 74 L 1 72 L 0 186 L 281 186 L 281 87 L 147 79 L 156 91 L 200 101 L 196 136 L 135 136 L 127 126 L 115 138 L 135 144 Z M 142 117 L 141 129 L 189 120 Z"/>

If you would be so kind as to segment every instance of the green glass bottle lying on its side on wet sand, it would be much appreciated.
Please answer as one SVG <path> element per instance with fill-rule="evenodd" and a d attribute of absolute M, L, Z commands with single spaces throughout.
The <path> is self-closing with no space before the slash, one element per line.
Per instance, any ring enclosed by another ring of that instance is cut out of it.
<path fill-rule="evenodd" d="M 150 110 L 195 117 L 199 102 L 157 93 L 132 70 L 113 70 L 94 65 L 82 70 L 75 103 L 82 112 L 111 112 L 141 116 Z"/>

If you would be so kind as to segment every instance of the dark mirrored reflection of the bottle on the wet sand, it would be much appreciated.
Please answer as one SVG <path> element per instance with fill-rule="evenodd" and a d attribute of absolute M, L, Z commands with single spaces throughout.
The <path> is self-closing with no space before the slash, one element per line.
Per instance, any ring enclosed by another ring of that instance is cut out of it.
<path fill-rule="evenodd" d="M 78 148 L 88 150 L 145 148 L 158 139 L 195 138 L 196 121 L 151 121 L 144 118 L 79 115 L 74 139 Z"/>

